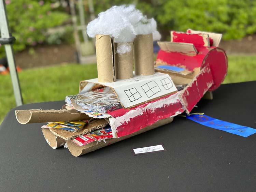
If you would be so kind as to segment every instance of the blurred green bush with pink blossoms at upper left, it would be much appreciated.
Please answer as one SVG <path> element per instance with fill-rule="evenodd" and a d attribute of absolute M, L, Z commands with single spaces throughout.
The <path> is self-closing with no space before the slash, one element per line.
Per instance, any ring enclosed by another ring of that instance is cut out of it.
<path fill-rule="evenodd" d="M 58 2 L 51 0 L 5 0 L 9 26 L 12 35 L 16 38 L 13 44 L 14 51 L 23 50 L 26 46 L 35 46 L 38 43 L 53 43 L 55 39 L 47 30 L 61 25 L 69 18 L 69 14 L 59 8 Z M 60 35 L 60 34 L 56 34 Z M 62 34 L 63 35 L 63 34 Z M 0 57 L 4 54 L 3 46 L 0 47 Z"/>

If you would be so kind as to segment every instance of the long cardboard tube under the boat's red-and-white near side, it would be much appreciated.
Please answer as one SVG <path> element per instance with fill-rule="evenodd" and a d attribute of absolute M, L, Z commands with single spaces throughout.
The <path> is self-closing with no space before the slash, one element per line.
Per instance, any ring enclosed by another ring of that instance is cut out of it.
<path fill-rule="evenodd" d="M 141 129 L 141 130 L 139 130 L 135 133 L 132 133 L 132 134 L 129 134 L 129 135 L 126 135 L 126 136 L 123 136 L 123 137 L 119 137 L 119 138 L 106 139 L 105 140 L 106 143 L 103 142 L 103 141 L 99 142 L 98 144 L 97 144 L 97 142 L 91 142 L 91 143 L 88 143 L 88 144 L 86 144 L 84 146 L 81 146 L 81 147 L 76 145 L 74 142 L 72 142 L 70 140 L 66 141 L 66 143 L 67 143 L 68 149 L 72 153 L 72 155 L 75 156 L 75 157 L 78 157 L 78 156 L 81 156 L 81 155 L 86 154 L 88 152 L 95 151 L 97 149 L 105 147 L 107 145 L 122 141 L 124 139 L 129 138 L 129 137 L 132 137 L 132 136 L 144 133 L 146 131 L 149 131 L 151 129 L 155 129 L 155 128 L 160 127 L 162 125 L 168 124 L 172 121 L 173 121 L 173 117 L 170 117 L 170 118 L 167 118 L 167 119 L 161 119 L 161 120 L 157 121 L 156 123 L 154 123 L 150 126 L 147 126 L 147 127 L 143 128 L 143 129 Z"/>

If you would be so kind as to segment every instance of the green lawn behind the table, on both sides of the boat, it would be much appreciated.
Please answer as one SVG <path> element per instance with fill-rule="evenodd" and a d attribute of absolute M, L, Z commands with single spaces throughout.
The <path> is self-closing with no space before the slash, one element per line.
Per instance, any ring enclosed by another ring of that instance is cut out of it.
<path fill-rule="evenodd" d="M 256 55 L 228 56 L 228 74 L 224 83 L 256 80 Z M 97 77 L 96 64 L 67 64 L 29 69 L 19 73 L 24 103 L 64 100 L 66 95 L 77 94 L 80 80 Z M 0 123 L 15 99 L 10 75 L 0 75 Z"/>

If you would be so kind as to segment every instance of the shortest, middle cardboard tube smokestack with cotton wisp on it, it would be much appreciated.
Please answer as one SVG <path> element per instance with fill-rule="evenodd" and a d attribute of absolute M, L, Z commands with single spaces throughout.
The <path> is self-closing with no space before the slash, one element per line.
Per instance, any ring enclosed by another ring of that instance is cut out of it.
<path fill-rule="evenodd" d="M 124 54 L 115 53 L 115 66 L 117 79 L 129 79 L 133 77 L 133 42 L 115 43 L 115 50 L 123 44 L 128 44 L 131 50 Z"/>

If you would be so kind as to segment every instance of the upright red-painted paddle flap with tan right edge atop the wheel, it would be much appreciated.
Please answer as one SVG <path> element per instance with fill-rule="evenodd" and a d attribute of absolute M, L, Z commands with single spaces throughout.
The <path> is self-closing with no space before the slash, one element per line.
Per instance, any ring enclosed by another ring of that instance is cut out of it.
<path fill-rule="evenodd" d="M 210 47 L 209 35 L 206 33 L 191 34 L 171 31 L 171 42 L 193 43 L 196 49 Z"/>

